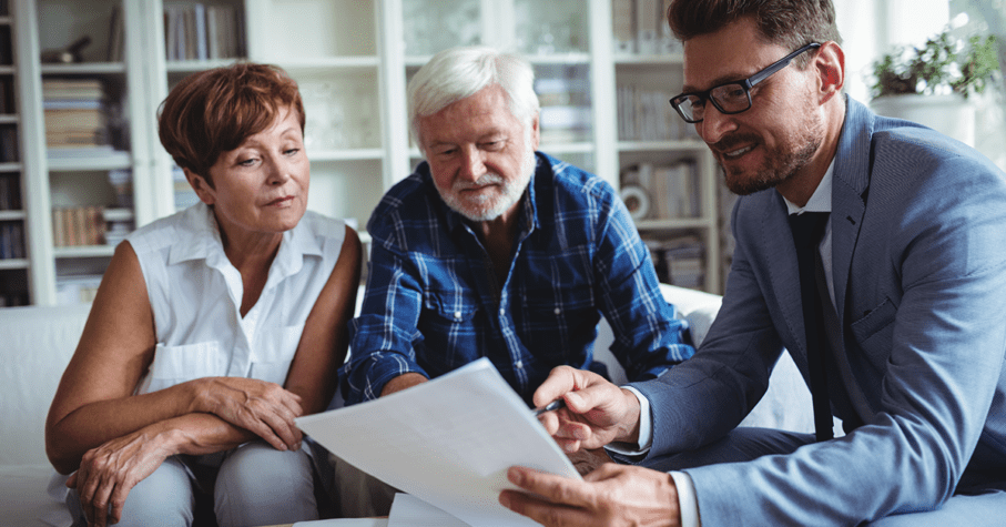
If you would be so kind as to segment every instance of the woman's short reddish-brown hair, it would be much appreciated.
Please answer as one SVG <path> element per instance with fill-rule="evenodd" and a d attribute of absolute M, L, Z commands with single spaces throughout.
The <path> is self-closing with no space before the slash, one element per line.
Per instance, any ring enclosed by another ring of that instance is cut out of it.
<path fill-rule="evenodd" d="M 297 112 L 303 133 L 297 83 L 282 68 L 238 62 L 182 79 L 161 103 L 157 135 L 179 166 L 213 186 L 210 168 L 220 154 L 265 130 L 287 108 Z"/>

